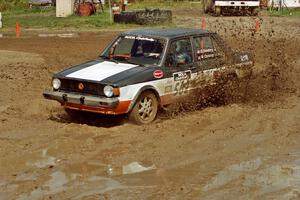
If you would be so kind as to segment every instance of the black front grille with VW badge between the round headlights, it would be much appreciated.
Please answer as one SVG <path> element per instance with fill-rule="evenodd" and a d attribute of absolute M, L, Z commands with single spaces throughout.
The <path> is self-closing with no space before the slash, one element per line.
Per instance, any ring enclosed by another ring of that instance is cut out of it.
<path fill-rule="evenodd" d="M 84 86 L 83 90 L 80 90 L 78 87 L 80 83 L 82 83 Z M 104 85 L 99 83 L 71 80 L 71 79 L 61 79 L 61 87 L 60 87 L 60 89 L 64 91 L 78 92 L 83 94 L 91 94 L 91 95 L 99 95 L 99 96 L 104 95 L 103 88 Z"/>

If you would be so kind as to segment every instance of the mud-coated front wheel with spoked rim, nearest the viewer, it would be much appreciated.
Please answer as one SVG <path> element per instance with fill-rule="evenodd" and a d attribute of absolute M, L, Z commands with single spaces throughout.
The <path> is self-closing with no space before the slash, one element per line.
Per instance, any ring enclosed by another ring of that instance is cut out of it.
<path fill-rule="evenodd" d="M 143 92 L 131 112 L 129 113 L 129 120 L 135 124 L 148 124 L 151 123 L 158 111 L 158 101 L 156 96 L 150 92 Z"/>

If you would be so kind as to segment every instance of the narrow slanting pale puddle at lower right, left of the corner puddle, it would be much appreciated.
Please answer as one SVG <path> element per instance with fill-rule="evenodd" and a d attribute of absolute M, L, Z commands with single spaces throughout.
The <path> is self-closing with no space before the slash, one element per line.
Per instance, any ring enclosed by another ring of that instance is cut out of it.
<path fill-rule="evenodd" d="M 203 191 L 216 189 L 223 185 L 226 185 L 232 180 L 239 178 L 245 172 L 251 172 L 257 170 L 262 164 L 260 158 L 250 161 L 244 161 L 239 164 L 230 165 L 216 175 L 210 183 L 203 187 Z"/>

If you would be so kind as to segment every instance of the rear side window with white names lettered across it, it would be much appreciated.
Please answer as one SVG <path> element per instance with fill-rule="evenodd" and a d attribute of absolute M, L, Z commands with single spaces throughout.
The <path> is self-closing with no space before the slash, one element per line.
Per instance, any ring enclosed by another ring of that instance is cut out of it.
<path fill-rule="evenodd" d="M 197 61 L 211 59 L 215 57 L 215 48 L 212 39 L 208 36 L 193 38 L 195 57 Z"/>

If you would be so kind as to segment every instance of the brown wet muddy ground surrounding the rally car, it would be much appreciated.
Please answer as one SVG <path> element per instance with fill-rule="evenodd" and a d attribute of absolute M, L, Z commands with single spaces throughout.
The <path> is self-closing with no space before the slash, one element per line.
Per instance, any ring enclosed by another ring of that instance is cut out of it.
<path fill-rule="evenodd" d="M 242 98 L 144 126 L 72 120 L 42 97 L 52 73 L 95 58 L 116 32 L 0 39 L 0 199 L 300 199 L 298 19 L 261 17 L 254 33 L 254 18 L 208 17 L 255 56 Z"/>

